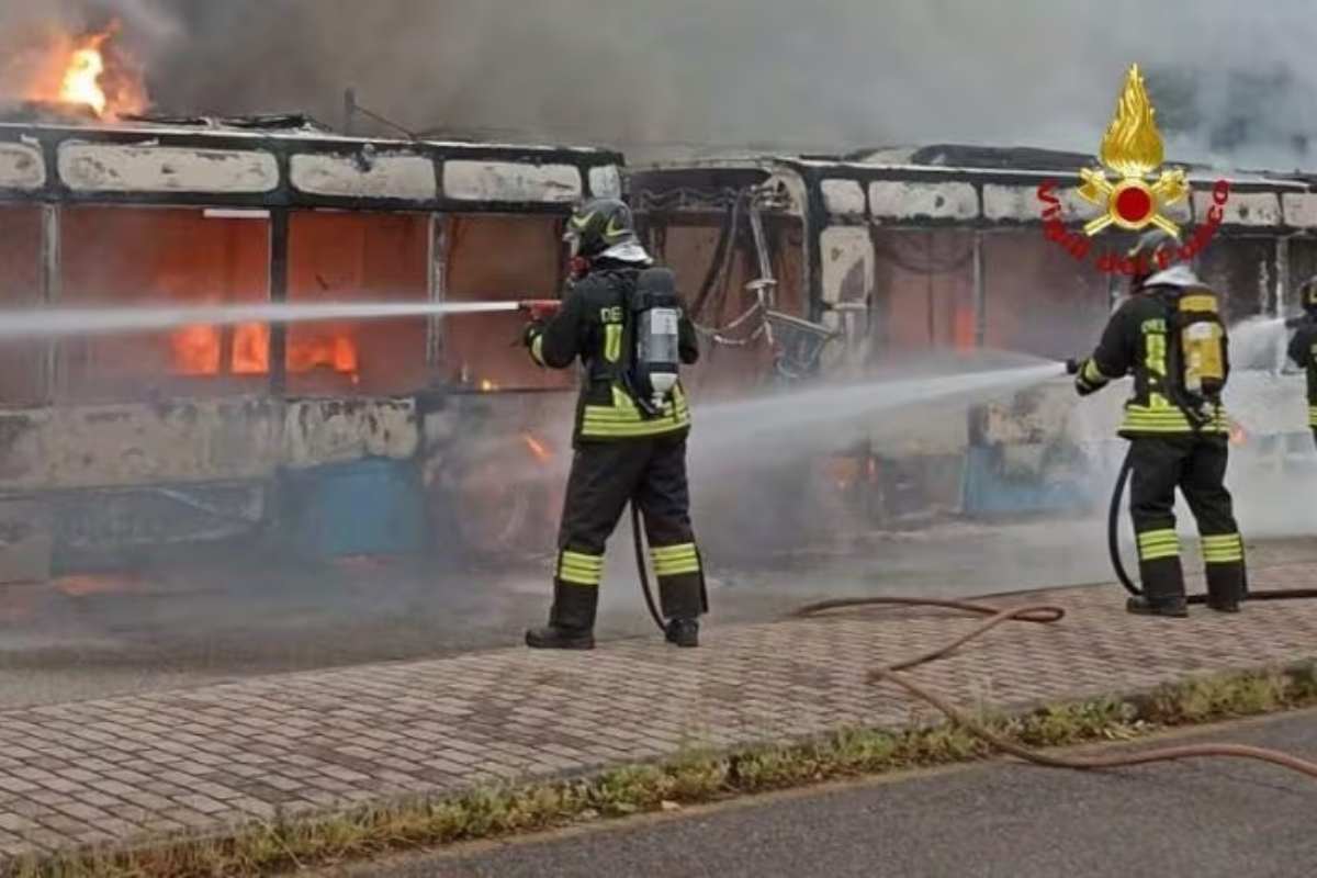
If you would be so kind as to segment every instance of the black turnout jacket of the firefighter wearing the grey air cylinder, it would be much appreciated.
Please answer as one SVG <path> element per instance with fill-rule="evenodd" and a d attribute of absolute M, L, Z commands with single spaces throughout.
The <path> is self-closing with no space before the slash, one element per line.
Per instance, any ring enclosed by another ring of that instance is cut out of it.
<path fill-rule="evenodd" d="M 531 358 L 541 366 L 568 369 L 581 361 L 574 444 L 678 434 L 690 429 L 690 407 L 680 380 L 657 417 L 647 417 L 628 388 L 626 376 L 635 345 L 628 337 L 627 301 L 640 267 L 615 265 L 597 269 L 572 284 L 558 313 L 543 326 L 532 326 L 528 334 Z M 697 362 L 695 326 L 685 313 L 677 332 L 681 362 Z"/>

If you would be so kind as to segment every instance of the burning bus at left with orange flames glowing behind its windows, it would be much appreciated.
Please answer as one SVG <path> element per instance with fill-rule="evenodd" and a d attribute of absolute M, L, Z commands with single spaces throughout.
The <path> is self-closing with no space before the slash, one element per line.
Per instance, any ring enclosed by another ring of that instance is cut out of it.
<path fill-rule="evenodd" d="M 552 297 L 570 205 L 620 192 L 622 157 L 597 149 L 360 140 L 299 117 L 0 124 L 0 308 Z M 518 326 L 7 344 L 0 579 L 259 534 L 291 555 L 502 552 L 556 512 L 506 475 L 561 453 L 536 425 L 573 382 L 511 348 Z"/>

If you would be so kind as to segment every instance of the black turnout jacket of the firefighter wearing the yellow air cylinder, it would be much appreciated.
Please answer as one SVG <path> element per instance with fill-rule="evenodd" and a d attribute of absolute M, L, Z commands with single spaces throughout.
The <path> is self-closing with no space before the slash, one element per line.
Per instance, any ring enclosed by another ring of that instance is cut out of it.
<path fill-rule="evenodd" d="M 1171 269 L 1150 278 L 1147 286 L 1112 315 L 1097 349 L 1076 376 L 1080 395 L 1096 392 L 1125 375 L 1134 376 L 1134 395 L 1125 403 L 1125 419 L 1118 430 L 1125 438 L 1229 432 L 1220 396 L 1208 400 L 1206 421 L 1197 429 L 1176 404 L 1179 378 L 1171 375 L 1172 309 L 1180 296 L 1191 296 L 1196 287 L 1202 287 L 1192 272 L 1172 274 L 1175 271 Z M 1229 350 L 1225 336 L 1221 344 Z M 1229 378 L 1229 357 L 1225 373 Z"/>

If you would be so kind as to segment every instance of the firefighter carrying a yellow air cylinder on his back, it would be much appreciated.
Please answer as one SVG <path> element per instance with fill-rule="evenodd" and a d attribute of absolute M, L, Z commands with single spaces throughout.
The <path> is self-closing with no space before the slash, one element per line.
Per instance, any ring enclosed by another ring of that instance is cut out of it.
<path fill-rule="evenodd" d="M 1133 613 L 1187 616 L 1175 490 L 1197 520 L 1206 563 L 1208 606 L 1237 612 L 1245 598 L 1243 540 L 1225 487 L 1229 420 L 1221 392 L 1230 374 L 1229 338 L 1217 296 L 1187 265 L 1163 267 L 1175 238 L 1144 234 L 1129 299 L 1115 311 L 1093 355 L 1079 365 L 1087 396 L 1133 374 L 1119 434 L 1130 440 L 1130 513 L 1138 537 L 1143 594 Z M 1159 259 L 1160 257 L 1160 259 Z"/>

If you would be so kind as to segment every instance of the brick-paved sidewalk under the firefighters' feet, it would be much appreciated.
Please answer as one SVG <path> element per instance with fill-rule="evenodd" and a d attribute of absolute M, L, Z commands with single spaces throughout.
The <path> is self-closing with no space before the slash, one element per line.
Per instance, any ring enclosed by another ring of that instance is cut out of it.
<path fill-rule="evenodd" d="M 1251 578 L 1314 587 L 1317 565 Z M 1039 602 L 1067 617 L 998 629 L 915 678 L 963 704 L 1015 707 L 1317 656 L 1317 600 L 1188 620 L 1129 616 L 1117 586 L 994 603 Z M 903 724 L 915 706 L 865 684 L 865 670 L 976 624 L 935 609 L 839 612 L 728 627 L 698 650 L 657 637 L 594 653 L 504 649 L 0 711 L 0 857 Z"/>

